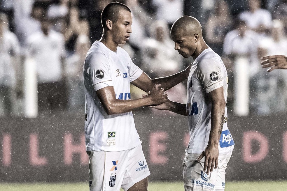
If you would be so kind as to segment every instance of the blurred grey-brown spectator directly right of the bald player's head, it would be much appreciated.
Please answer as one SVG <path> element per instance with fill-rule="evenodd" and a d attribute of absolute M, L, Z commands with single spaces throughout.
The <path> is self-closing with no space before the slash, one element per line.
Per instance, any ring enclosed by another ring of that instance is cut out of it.
<path fill-rule="evenodd" d="M 225 34 L 231 30 L 232 17 L 225 1 L 219 0 L 214 7 L 214 14 L 211 15 L 206 24 L 206 40 L 209 46 L 222 56 L 223 39 Z"/>

